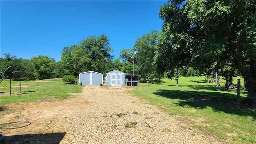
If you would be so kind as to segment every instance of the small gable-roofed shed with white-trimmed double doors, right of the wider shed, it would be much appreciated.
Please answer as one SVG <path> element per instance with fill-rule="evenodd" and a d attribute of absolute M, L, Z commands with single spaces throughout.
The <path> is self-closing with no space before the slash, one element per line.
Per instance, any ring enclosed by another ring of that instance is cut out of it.
<path fill-rule="evenodd" d="M 108 86 L 124 85 L 125 73 L 119 70 L 112 70 L 105 74 L 106 84 Z"/>

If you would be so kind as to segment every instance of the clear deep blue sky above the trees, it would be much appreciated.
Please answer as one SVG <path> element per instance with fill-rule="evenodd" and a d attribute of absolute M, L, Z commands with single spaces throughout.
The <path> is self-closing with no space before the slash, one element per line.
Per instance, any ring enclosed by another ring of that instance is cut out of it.
<path fill-rule="evenodd" d="M 112 53 L 131 49 L 136 38 L 160 31 L 159 8 L 167 0 L 0 1 L 0 57 L 9 53 L 59 61 L 65 46 L 105 34 Z"/>

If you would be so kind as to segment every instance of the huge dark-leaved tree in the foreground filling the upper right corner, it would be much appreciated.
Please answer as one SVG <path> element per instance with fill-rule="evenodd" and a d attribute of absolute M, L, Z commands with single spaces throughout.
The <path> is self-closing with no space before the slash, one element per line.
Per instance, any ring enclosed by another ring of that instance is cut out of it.
<path fill-rule="evenodd" d="M 255 1 L 168 1 L 160 8 L 164 20 L 161 46 L 163 51 L 171 49 L 173 57 L 163 54 L 162 59 L 182 57 L 183 64 L 202 67 L 218 62 L 237 68 L 246 80 L 247 99 L 254 102 L 255 5 Z"/>

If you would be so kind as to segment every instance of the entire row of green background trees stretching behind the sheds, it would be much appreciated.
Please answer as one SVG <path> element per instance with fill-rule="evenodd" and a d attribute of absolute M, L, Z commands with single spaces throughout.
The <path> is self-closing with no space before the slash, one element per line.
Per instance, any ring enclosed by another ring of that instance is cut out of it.
<path fill-rule="evenodd" d="M 170 71 L 160 73 L 155 61 L 157 52 L 157 38 L 159 33 L 155 30 L 150 34 L 136 40 L 134 49 L 124 49 L 120 52 L 120 58 L 114 59 L 110 54 L 110 47 L 106 35 L 89 36 L 81 40 L 78 45 L 67 46 L 62 49 L 61 60 L 56 62 L 48 56 L 34 56 L 29 60 L 16 58 L 11 54 L 4 54 L 0 58 L 0 71 L 4 72 L 9 66 L 14 66 L 15 71 L 26 72 L 23 80 L 42 80 L 48 78 L 62 78 L 64 75 L 78 76 L 81 72 L 95 71 L 105 74 L 112 70 L 133 74 L 133 56 L 135 74 L 143 80 L 171 78 Z M 154 44 L 153 44 L 154 43 Z M 134 54 L 136 52 L 136 54 Z M 181 69 L 179 76 L 201 76 L 198 70 L 192 67 Z"/>

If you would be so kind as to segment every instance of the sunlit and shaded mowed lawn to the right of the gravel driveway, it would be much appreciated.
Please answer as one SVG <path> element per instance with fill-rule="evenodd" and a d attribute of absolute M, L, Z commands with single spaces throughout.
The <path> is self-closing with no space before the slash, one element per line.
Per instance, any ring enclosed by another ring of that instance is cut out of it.
<path fill-rule="evenodd" d="M 237 84 L 235 77 L 233 83 Z M 243 85 L 243 78 L 241 85 Z M 246 104 L 238 104 L 237 88 L 224 90 L 215 83 L 205 83 L 204 77 L 160 80 L 155 84 L 140 83 L 134 93 L 151 104 L 168 111 L 170 115 L 183 116 L 193 128 L 215 136 L 226 143 L 256 143 L 256 112 Z M 242 89 L 242 86 L 241 86 Z M 246 93 L 241 92 L 241 100 Z"/>

